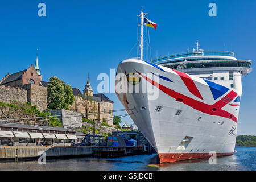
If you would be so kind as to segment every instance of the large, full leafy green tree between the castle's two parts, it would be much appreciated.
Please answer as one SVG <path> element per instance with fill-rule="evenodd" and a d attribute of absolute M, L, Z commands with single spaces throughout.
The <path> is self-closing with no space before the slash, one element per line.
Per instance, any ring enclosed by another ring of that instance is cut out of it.
<path fill-rule="evenodd" d="M 47 85 L 47 105 L 49 109 L 68 109 L 75 98 L 70 85 L 65 84 L 56 76 L 49 78 Z"/>

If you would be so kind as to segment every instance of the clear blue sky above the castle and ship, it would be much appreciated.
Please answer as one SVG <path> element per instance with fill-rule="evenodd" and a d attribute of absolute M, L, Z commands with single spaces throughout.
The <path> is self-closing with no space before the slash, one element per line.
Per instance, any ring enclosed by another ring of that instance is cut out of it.
<path fill-rule="evenodd" d="M 46 17 L 38 4 L 46 4 Z M 217 5 L 209 17 L 208 5 Z M 255 60 L 256 1 L 3 1 L 0 6 L 0 77 L 35 63 L 43 80 L 57 76 L 84 89 L 88 72 L 94 90 L 99 73 L 110 73 L 137 42 L 137 14 L 143 6 L 150 28 L 152 57 L 192 50 L 195 41 L 205 50 L 235 52 L 237 59 Z M 225 45 L 225 46 L 224 46 Z M 231 46 L 232 45 L 232 46 Z M 129 57 L 136 56 L 132 51 Z M 252 64 L 255 68 L 255 64 Z M 242 78 L 238 135 L 256 135 L 256 72 Z M 97 92 L 97 91 L 96 91 Z M 123 108 L 115 94 L 106 94 Z M 122 114 L 122 113 L 118 113 Z M 123 123 L 133 123 L 129 117 Z"/>

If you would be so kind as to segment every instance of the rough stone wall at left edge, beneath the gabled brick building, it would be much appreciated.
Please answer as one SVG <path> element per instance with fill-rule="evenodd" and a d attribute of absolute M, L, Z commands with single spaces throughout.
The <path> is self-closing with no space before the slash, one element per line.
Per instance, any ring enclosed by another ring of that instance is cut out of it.
<path fill-rule="evenodd" d="M 11 103 L 18 101 L 21 103 L 27 102 L 27 90 L 20 88 L 11 88 L 10 86 L 0 85 L 0 101 Z"/>

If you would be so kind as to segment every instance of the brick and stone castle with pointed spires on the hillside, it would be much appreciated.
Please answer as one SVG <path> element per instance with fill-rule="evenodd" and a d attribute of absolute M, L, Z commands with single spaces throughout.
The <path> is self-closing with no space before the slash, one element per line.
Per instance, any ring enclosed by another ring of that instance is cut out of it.
<path fill-rule="evenodd" d="M 10 103 L 12 100 L 30 102 L 36 105 L 40 111 L 47 109 L 47 85 L 49 82 L 42 81 L 40 73 L 38 56 L 36 56 L 35 67 L 30 65 L 23 71 L 7 75 L 0 81 L 0 101 Z M 92 85 L 89 77 L 83 93 L 79 88 L 72 88 L 75 102 L 69 107 L 70 110 L 85 115 L 85 105 L 92 103 L 89 107 L 90 114 L 88 119 L 97 119 L 102 121 L 106 119 L 109 125 L 113 125 L 113 101 L 109 100 L 104 94 L 93 94 Z M 86 100 L 86 96 L 90 99 Z M 92 114 L 94 113 L 94 114 Z"/>

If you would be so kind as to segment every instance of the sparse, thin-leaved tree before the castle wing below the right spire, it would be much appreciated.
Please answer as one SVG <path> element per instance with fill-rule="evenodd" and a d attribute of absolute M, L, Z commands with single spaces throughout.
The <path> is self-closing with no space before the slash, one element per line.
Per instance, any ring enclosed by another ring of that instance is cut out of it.
<path fill-rule="evenodd" d="M 82 106 L 84 106 L 85 109 L 85 118 L 88 119 L 88 116 L 90 114 L 96 115 L 96 104 L 93 100 L 93 97 L 86 92 L 84 95 L 82 95 Z"/>

